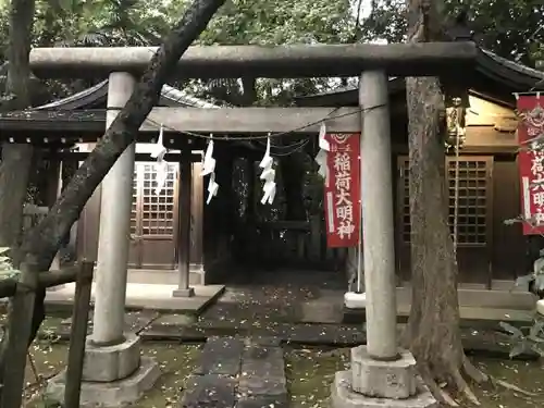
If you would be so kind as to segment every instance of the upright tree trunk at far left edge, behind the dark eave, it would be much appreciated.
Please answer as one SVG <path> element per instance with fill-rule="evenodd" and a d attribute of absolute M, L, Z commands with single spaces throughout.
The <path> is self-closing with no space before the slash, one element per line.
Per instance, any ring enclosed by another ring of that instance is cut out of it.
<path fill-rule="evenodd" d="M 8 50 L 8 101 L 2 110 L 22 110 L 30 104 L 30 36 L 34 0 L 12 0 Z M 0 247 L 16 247 L 23 225 L 23 205 L 32 169 L 30 145 L 4 143 L 0 164 Z M 9 191 L 9 194 L 5 194 Z"/>

